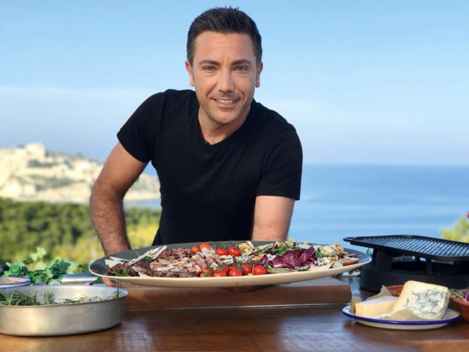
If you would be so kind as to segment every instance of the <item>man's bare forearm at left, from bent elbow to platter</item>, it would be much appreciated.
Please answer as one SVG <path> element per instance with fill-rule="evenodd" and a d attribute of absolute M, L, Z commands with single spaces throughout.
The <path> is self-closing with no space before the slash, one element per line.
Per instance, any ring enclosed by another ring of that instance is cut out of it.
<path fill-rule="evenodd" d="M 123 196 L 105 187 L 95 186 L 91 193 L 91 219 L 107 255 L 131 249 L 126 235 L 122 200 Z"/>

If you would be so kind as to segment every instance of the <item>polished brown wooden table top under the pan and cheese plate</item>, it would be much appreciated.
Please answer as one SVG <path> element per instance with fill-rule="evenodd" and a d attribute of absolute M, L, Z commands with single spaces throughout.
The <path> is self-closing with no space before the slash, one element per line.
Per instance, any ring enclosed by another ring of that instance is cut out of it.
<path fill-rule="evenodd" d="M 343 278 L 354 296 L 356 278 Z M 435 330 L 386 330 L 345 317 L 344 304 L 126 311 L 110 330 L 63 337 L 0 334 L 0 351 L 469 351 L 461 318 Z"/>

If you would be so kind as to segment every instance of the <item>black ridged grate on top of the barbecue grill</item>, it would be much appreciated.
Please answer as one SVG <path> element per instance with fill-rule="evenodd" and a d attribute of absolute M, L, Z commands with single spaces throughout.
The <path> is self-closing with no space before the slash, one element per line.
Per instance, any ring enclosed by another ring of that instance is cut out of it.
<path fill-rule="evenodd" d="M 347 237 L 344 241 L 380 251 L 438 261 L 469 261 L 469 243 L 463 242 L 413 235 Z"/>

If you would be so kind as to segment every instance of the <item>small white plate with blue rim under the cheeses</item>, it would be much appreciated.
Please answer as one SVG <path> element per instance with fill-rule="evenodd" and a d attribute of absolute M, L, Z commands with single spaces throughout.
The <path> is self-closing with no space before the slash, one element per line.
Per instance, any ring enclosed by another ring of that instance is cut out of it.
<path fill-rule="evenodd" d="M 374 328 L 382 329 L 394 329 L 394 330 L 430 330 L 444 327 L 448 323 L 459 319 L 459 315 L 452 309 L 447 309 L 446 314 L 454 313 L 455 316 L 446 319 L 438 320 L 419 320 L 419 321 L 403 321 L 403 320 L 384 320 L 384 319 L 374 319 L 366 318 L 359 315 L 355 315 L 350 312 L 350 306 L 347 306 L 342 309 L 344 313 L 349 318 L 355 319 L 357 323 L 368 325 Z"/>

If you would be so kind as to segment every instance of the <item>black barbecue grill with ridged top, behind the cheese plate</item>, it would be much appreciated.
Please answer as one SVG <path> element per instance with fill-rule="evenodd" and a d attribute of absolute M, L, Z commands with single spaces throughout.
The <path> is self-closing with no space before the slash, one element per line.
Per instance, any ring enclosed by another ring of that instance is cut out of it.
<path fill-rule="evenodd" d="M 373 249 L 372 261 L 361 268 L 360 287 L 379 292 L 381 286 L 408 280 L 469 287 L 469 243 L 414 235 L 347 237 L 344 241 Z"/>

